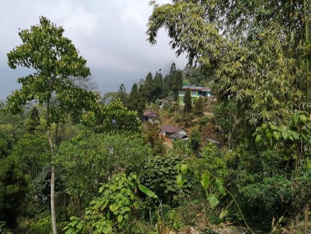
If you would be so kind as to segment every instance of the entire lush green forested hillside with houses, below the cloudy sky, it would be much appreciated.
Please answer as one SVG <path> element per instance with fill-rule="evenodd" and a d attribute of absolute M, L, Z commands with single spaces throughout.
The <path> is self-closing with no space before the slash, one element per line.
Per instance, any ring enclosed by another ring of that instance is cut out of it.
<path fill-rule="evenodd" d="M 0 234 L 310 233 L 311 2 L 150 5 L 187 67 L 102 96 L 61 26 L 19 30 Z"/>

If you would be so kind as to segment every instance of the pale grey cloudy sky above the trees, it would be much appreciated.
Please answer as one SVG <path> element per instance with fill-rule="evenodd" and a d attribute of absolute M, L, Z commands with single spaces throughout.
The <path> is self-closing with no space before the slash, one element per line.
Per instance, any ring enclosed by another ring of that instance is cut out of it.
<path fill-rule="evenodd" d="M 65 29 L 80 55 L 86 58 L 92 78 L 103 95 L 117 91 L 124 83 L 127 91 L 134 82 L 172 62 L 182 69 L 184 55 L 176 58 L 164 30 L 152 46 L 146 41 L 149 0 L 0 0 L 0 100 L 18 89 L 17 78 L 32 71 L 7 65 L 6 54 L 21 43 L 18 29 L 30 28 L 45 16 Z M 157 0 L 168 3 L 170 0 Z"/>

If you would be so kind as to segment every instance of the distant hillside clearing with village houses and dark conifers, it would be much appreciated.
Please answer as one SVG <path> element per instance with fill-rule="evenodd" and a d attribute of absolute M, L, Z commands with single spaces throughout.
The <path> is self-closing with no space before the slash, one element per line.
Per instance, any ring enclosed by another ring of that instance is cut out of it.
<path fill-rule="evenodd" d="M 200 85 L 208 84 L 210 80 L 199 68 L 180 71 L 175 67 L 173 63 L 170 72 L 164 78 L 161 69 L 154 77 L 149 72 L 145 80 L 140 80 L 139 85 L 136 83 L 133 85 L 130 93 L 126 93 L 121 84 L 118 92 L 105 94 L 103 101 L 108 104 L 119 98 L 125 106 L 140 112 L 138 115 L 141 116 L 139 119 L 144 123 L 143 126 L 146 122 L 157 126 L 159 136 L 168 147 L 173 147 L 174 140 L 188 141 L 192 130 L 199 127 L 199 120 L 212 119 L 212 106 L 217 103 L 211 89 Z M 188 97 L 185 97 L 186 95 Z M 137 101 L 133 100 L 135 98 Z M 216 140 L 207 139 L 221 144 Z"/>

